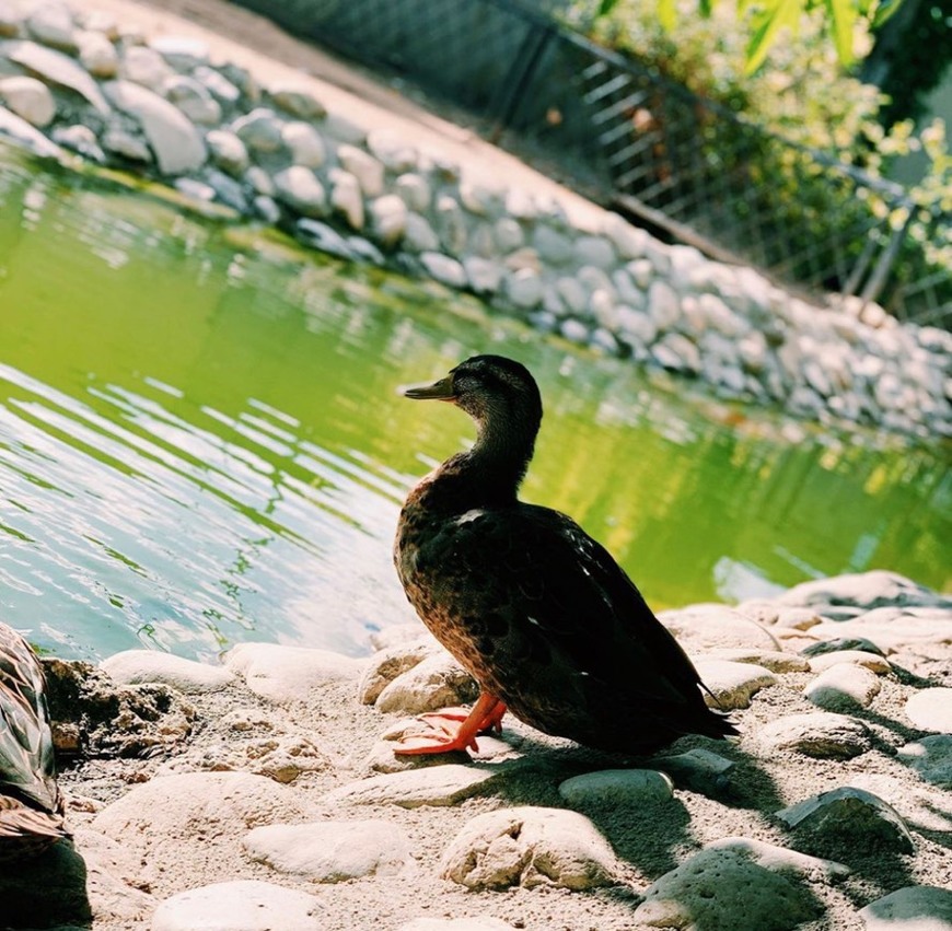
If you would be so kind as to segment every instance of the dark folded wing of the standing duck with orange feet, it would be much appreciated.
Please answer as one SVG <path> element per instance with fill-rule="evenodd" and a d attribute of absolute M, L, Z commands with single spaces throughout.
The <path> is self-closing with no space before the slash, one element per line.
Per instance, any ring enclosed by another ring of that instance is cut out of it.
<path fill-rule="evenodd" d="M 520 504 L 462 523 L 454 537 L 453 559 L 471 578 L 491 579 L 498 613 L 518 626 L 510 636 L 524 655 L 557 668 L 568 687 L 617 695 L 640 719 L 675 731 L 732 733 L 705 705 L 697 671 L 631 580 L 570 517 Z"/>

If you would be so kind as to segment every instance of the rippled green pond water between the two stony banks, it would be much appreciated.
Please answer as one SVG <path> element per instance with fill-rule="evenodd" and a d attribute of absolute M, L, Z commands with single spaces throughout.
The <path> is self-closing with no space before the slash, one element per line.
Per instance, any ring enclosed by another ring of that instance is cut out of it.
<path fill-rule="evenodd" d="M 948 447 L 706 399 L 0 146 L 0 618 L 82 657 L 365 652 L 411 616 L 399 502 L 473 434 L 395 389 L 484 351 L 542 387 L 524 497 L 579 520 L 655 608 L 871 568 L 952 584 Z"/>

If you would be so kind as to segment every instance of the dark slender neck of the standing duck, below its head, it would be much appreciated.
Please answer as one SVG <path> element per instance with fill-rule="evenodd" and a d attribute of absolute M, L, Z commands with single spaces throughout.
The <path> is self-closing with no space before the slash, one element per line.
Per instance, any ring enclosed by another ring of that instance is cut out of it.
<path fill-rule="evenodd" d="M 428 509 L 462 513 L 514 504 L 535 447 L 538 422 L 519 417 L 477 420 L 476 443 L 425 479 Z"/>

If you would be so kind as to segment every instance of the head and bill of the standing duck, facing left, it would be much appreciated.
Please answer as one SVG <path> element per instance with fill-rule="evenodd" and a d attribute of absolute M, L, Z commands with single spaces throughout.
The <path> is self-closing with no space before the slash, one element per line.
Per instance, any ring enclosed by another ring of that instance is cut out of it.
<path fill-rule="evenodd" d="M 406 397 L 445 400 L 465 410 L 479 426 L 519 429 L 532 439 L 542 422 L 542 397 L 535 379 L 520 362 L 503 356 L 473 356 L 430 385 L 403 389 Z"/>

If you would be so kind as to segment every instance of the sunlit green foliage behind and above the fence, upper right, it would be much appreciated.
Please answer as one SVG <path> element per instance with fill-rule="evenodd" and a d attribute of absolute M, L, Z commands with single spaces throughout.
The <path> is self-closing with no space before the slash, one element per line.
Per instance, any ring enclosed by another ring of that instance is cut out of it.
<path fill-rule="evenodd" d="M 887 98 L 843 66 L 846 33 L 850 54 L 864 56 L 872 44 L 870 19 L 876 12 L 885 15 L 889 8 L 875 5 L 875 0 L 763 0 L 761 5 L 739 0 L 740 8 L 732 9 L 712 0 L 710 15 L 704 16 L 698 15 L 698 0 L 667 2 L 671 27 L 643 0 L 603 0 L 597 9 L 579 0 L 569 15 L 595 42 L 632 54 L 659 74 L 765 130 L 746 146 L 744 172 L 757 207 L 776 218 L 793 245 L 811 238 L 824 242 L 835 224 L 846 230 L 854 223 L 858 229 L 878 226 L 874 235 L 884 247 L 893 231 L 909 221 L 887 291 L 937 269 L 952 290 L 949 224 L 936 220 L 952 209 L 952 159 L 944 128 L 937 121 L 918 138 L 912 120 L 884 129 L 880 115 Z M 609 12 L 600 14 L 606 5 Z M 831 30 L 838 36 L 835 43 L 829 42 Z M 738 158 L 718 150 L 717 143 L 699 144 L 713 147 L 705 151 L 711 164 Z M 929 170 L 905 206 L 898 206 L 902 201 L 878 182 L 897 156 L 919 149 L 929 158 Z M 843 183 L 843 174 L 827 171 L 814 152 L 847 171 L 861 170 L 872 183 L 859 188 Z M 750 205 L 739 202 L 735 209 Z M 859 255 L 845 258 L 857 261 Z M 843 282 L 829 282 L 837 283 Z M 883 299 L 887 303 L 890 294 Z"/>

